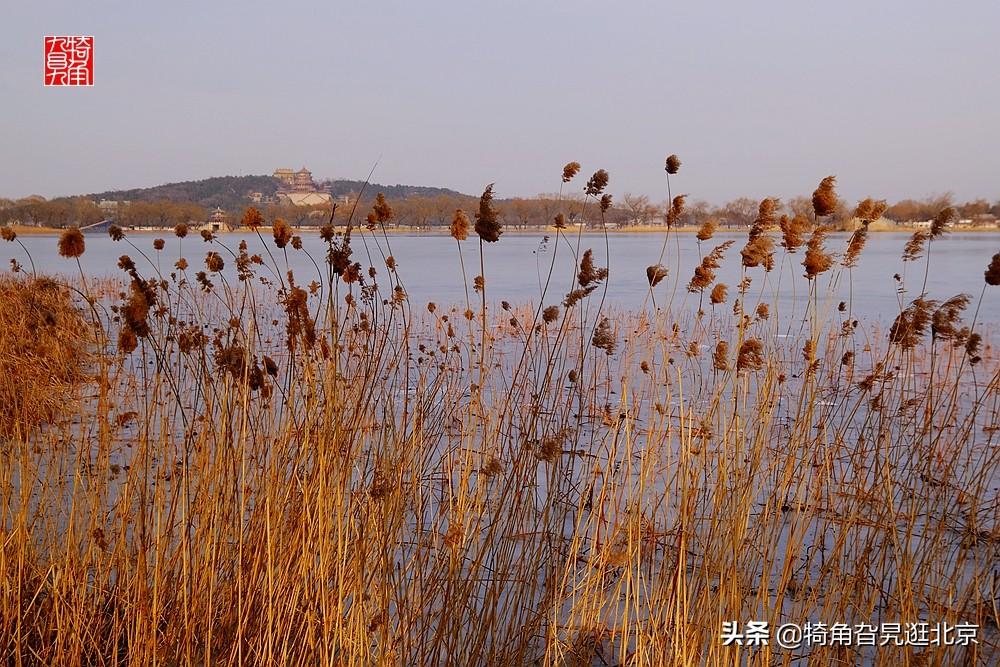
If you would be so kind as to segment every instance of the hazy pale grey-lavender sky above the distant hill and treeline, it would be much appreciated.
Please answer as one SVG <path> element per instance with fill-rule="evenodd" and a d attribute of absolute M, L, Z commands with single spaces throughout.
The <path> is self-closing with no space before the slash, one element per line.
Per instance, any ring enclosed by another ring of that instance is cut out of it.
<path fill-rule="evenodd" d="M 42 85 L 93 35 L 95 85 Z M 306 166 L 499 197 L 1000 199 L 1000 3 L 8 2 L 0 196 Z M 579 178 L 579 177 L 578 177 Z M 585 178 L 569 188 L 582 190 Z"/>

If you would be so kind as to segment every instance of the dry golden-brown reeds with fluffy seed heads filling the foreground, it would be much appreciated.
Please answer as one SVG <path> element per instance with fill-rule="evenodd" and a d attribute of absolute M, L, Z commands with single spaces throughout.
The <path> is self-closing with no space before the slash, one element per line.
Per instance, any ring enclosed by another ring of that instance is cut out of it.
<path fill-rule="evenodd" d="M 591 207 L 610 202 L 600 173 Z M 288 269 L 307 250 L 281 223 L 266 257 L 186 228 L 174 259 L 127 247 L 120 286 L 75 285 L 72 326 L 42 334 L 8 316 L 37 283 L 5 277 L 4 661 L 995 664 L 1000 394 L 974 301 L 921 293 L 888 330 L 857 322 L 832 302 L 851 261 L 765 200 L 739 258 L 705 255 L 696 308 L 679 276 L 660 308 L 606 304 L 615 272 L 642 269 L 599 267 L 558 228 L 573 283 L 556 293 L 550 268 L 537 303 L 496 304 L 491 197 L 478 303 L 410 303 L 384 203 L 321 231 L 315 276 Z M 460 246 L 469 224 L 456 213 Z M 743 265 L 731 301 L 723 261 Z M 798 330 L 775 312 L 790 282 L 810 294 Z M 11 355 L 26 340 L 53 384 Z M 723 646 L 722 623 L 748 620 L 980 633 Z"/>

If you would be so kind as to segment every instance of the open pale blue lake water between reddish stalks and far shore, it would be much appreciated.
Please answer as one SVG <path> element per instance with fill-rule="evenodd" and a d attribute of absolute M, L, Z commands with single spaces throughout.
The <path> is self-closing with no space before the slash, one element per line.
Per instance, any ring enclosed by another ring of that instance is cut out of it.
<path fill-rule="evenodd" d="M 301 234 L 304 250 L 324 269 L 325 243 L 312 230 Z M 352 259 L 361 262 L 365 269 L 370 265 L 375 266 L 379 276 L 384 278 L 386 269 L 383 257 L 391 254 L 396 259 L 399 275 L 415 306 L 428 301 L 442 305 L 465 304 L 463 261 L 469 292 L 473 301 L 478 300 L 478 295 L 472 293 L 473 277 L 480 273 L 479 240 L 475 236 L 461 243 L 460 259 L 456 241 L 446 235 L 390 234 L 387 240 L 381 234 L 373 236 L 365 232 L 362 235 L 358 230 L 354 234 Z M 80 258 L 80 263 L 83 271 L 91 277 L 124 276 L 116 265 L 120 255 L 128 254 L 136 261 L 140 273 L 155 276 L 152 264 L 158 265 L 159 270 L 166 274 L 173 270 L 177 258 L 184 256 L 191 265 L 188 274 L 193 277 L 195 271 L 204 269 L 205 253 L 216 250 L 226 260 L 224 273 L 227 278 L 235 279 L 232 256 L 218 247 L 219 244 L 235 251 L 240 241 L 245 240 L 251 254 L 260 253 L 267 260 L 266 245 L 274 254 L 278 266 L 285 266 L 286 259 L 274 247 L 270 234 L 262 232 L 262 235 L 264 243 L 256 234 L 231 233 L 220 235 L 215 243 L 209 244 L 197 233 L 179 240 L 167 230 L 162 234 L 133 232 L 128 240 L 146 253 L 151 262 L 146 263 L 128 243 L 116 243 L 105 233 L 92 233 L 86 236 L 87 250 Z M 152 247 L 153 240 L 158 237 L 166 240 L 166 248 L 159 253 Z M 831 234 L 827 239 L 827 250 L 842 254 L 848 237 L 844 233 Z M 903 246 L 909 238 L 909 233 L 872 233 L 856 267 L 848 271 L 836 264 L 833 270 L 820 276 L 820 298 L 817 304 L 821 312 L 832 312 L 839 301 L 849 301 L 854 317 L 891 322 L 901 304 L 905 306 L 919 296 L 924 282 L 925 257 L 906 263 L 901 260 Z M 28 247 L 39 272 L 67 276 L 76 274 L 75 262 L 59 257 L 55 236 L 21 236 L 19 239 Z M 498 243 L 485 244 L 487 297 L 491 302 L 506 300 L 512 303 L 537 303 L 555 255 L 552 280 L 544 302 L 559 303 L 574 286 L 571 285 L 576 272 L 574 256 L 579 245 L 580 253 L 592 248 L 597 266 L 607 266 L 610 270 L 606 306 L 615 310 L 635 310 L 651 306 L 645 269 L 660 260 L 663 240 L 663 235 L 657 233 L 615 233 L 605 239 L 599 233 L 588 232 L 578 237 L 576 232 L 570 232 L 561 237 L 557 250 L 554 235 L 507 232 Z M 669 274 L 654 290 L 657 305 L 670 302 L 671 295 L 674 295 L 672 303 L 675 308 L 696 311 L 699 307 L 699 295 L 688 293 L 686 285 L 700 256 L 727 240 L 734 241 L 734 244 L 726 253 L 717 273 L 718 280 L 730 288 L 731 304 L 736 284 L 741 278 L 739 251 L 746 241 L 746 234 L 718 233 L 713 239 L 701 243 L 699 250 L 695 235 L 685 232 L 672 234 L 669 238 L 662 260 Z M 748 310 L 759 298 L 771 302 L 772 308 L 783 317 L 790 314 L 801 316 L 807 309 L 809 287 L 802 275 L 804 248 L 794 254 L 785 253 L 777 246 L 777 242 L 776 248 L 775 259 L 778 266 L 772 273 L 765 274 L 761 268 L 749 269 L 747 272 L 753 278 L 748 293 Z M 973 310 L 983 286 L 983 271 L 992 255 L 1000 251 L 1000 233 L 953 233 L 933 241 L 931 248 L 930 271 L 926 282 L 929 298 L 944 300 L 965 292 L 973 297 L 970 311 Z M 11 258 L 20 262 L 25 270 L 30 268 L 20 246 L 6 243 L 0 245 L 0 259 L 4 264 Z M 287 263 L 294 271 L 298 283 L 308 284 L 317 279 L 316 268 L 305 252 L 289 248 Z M 901 282 L 894 278 L 896 274 L 902 279 Z M 994 295 L 991 292 L 992 290 L 987 291 L 979 311 L 978 319 L 983 323 L 1000 322 L 1000 294 Z M 596 296 L 601 293 L 599 290 Z M 710 306 L 707 293 L 703 301 L 702 307 L 708 310 Z M 728 309 L 726 306 L 718 308 L 720 312 L 723 308 Z M 969 315 L 971 316 L 971 312 Z"/>

